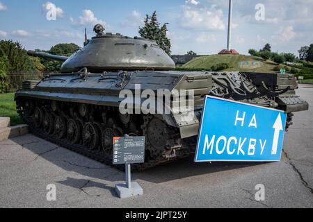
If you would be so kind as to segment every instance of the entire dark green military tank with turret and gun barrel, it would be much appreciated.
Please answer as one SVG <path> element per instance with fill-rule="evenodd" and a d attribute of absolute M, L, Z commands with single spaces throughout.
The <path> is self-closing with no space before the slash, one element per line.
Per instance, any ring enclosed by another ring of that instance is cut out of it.
<path fill-rule="evenodd" d="M 94 31 L 95 37 L 69 58 L 29 51 L 63 65 L 58 74 L 25 81 L 15 101 L 33 134 L 99 162 L 112 164 L 113 137 L 124 135 L 146 138 L 145 163 L 136 170 L 192 155 L 206 95 L 284 110 L 286 130 L 293 112 L 308 109 L 296 95 L 292 74 L 174 71 L 175 63 L 156 42 L 104 33 L 101 25 Z M 145 90 L 171 94 L 144 106 Z M 131 99 L 133 108 L 127 105 L 134 112 L 120 112 L 124 92 L 141 94 Z M 192 103 L 172 92 L 193 92 Z M 187 106 L 175 107 L 184 101 Z M 151 112 L 154 106 L 168 112 Z"/>

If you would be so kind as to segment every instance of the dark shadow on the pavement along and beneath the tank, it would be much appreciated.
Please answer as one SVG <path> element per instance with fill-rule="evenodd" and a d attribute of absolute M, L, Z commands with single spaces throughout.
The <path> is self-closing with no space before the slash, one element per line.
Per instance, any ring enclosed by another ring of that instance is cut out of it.
<path fill-rule="evenodd" d="M 34 161 L 38 160 L 40 157 L 65 171 L 72 171 L 75 173 L 79 173 L 82 176 L 88 176 L 90 178 L 109 180 L 111 182 L 125 180 L 125 173 L 119 171 L 118 169 L 106 166 L 99 162 L 95 162 L 94 160 L 90 160 L 88 157 L 84 157 L 65 148 L 61 148 L 56 144 L 51 144 L 50 142 L 47 142 L 33 135 L 17 137 L 12 139 L 12 141 L 34 153 L 36 155 Z M 143 172 L 134 172 L 132 173 L 132 180 L 140 179 L 148 182 L 162 183 L 168 182 L 170 180 L 200 176 L 220 171 L 229 171 L 233 169 L 241 169 L 244 167 L 253 167 L 257 164 L 265 163 L 195 163 L 193 162 L 193 155 L 191 155 L 190 157 L 186 157 L 182 160 L 163 164 L 153 169 L 147 169 Z M 60 183 L 78 189 L 81 189 L 82 185 L 84 185 L 85 183 L 85 186 L 99 187 L 109 189 L 110 191 L 112 191 L 113 189 L 112 187 L 108 187 L 107 185 L 99 182 L 93 182 L 88 180 L 82 181 L 70 177 L 68 177 L 65 181 L 60 181 Z"/>

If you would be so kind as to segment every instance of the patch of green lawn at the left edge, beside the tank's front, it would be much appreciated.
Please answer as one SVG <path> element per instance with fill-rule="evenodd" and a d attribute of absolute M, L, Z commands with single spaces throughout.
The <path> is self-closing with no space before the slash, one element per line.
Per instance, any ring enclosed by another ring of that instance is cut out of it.
<path fill-rule="evenodd" d="M 0 94 L 0 117 L 10 117 L 11 126 L 23 123 L 16 112 L 14 93 Z"/>

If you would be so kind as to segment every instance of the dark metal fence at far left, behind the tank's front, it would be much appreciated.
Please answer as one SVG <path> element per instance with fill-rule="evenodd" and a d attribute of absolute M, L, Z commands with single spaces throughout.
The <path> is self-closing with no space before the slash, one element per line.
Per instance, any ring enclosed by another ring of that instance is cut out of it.
<path fill-rule="evenodd" d="M 43 74 L 29 74 L 21 72 L 8 73 L 8 85 L 6 92 L 15 92 L 17 89 L 22 88 L 22 83 L 25 80 L 41 80 Z"/>

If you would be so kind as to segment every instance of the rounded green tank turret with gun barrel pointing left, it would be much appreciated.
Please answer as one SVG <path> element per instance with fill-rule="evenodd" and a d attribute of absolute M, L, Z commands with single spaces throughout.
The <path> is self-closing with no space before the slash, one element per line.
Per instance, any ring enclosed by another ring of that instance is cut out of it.
<path fill-rule="evenodd" d="M 175 69 L 170 56 L 152 40 L 104 33 L 104 27 L 99 24 L 94 31 L 97 35 L 86 41 L 85 46 L 70 58 L 39 52 L 29 52 L 29 55 L 65 61 L 61 67 L 62 73 L 85 67 L 92 72 Z"/>

